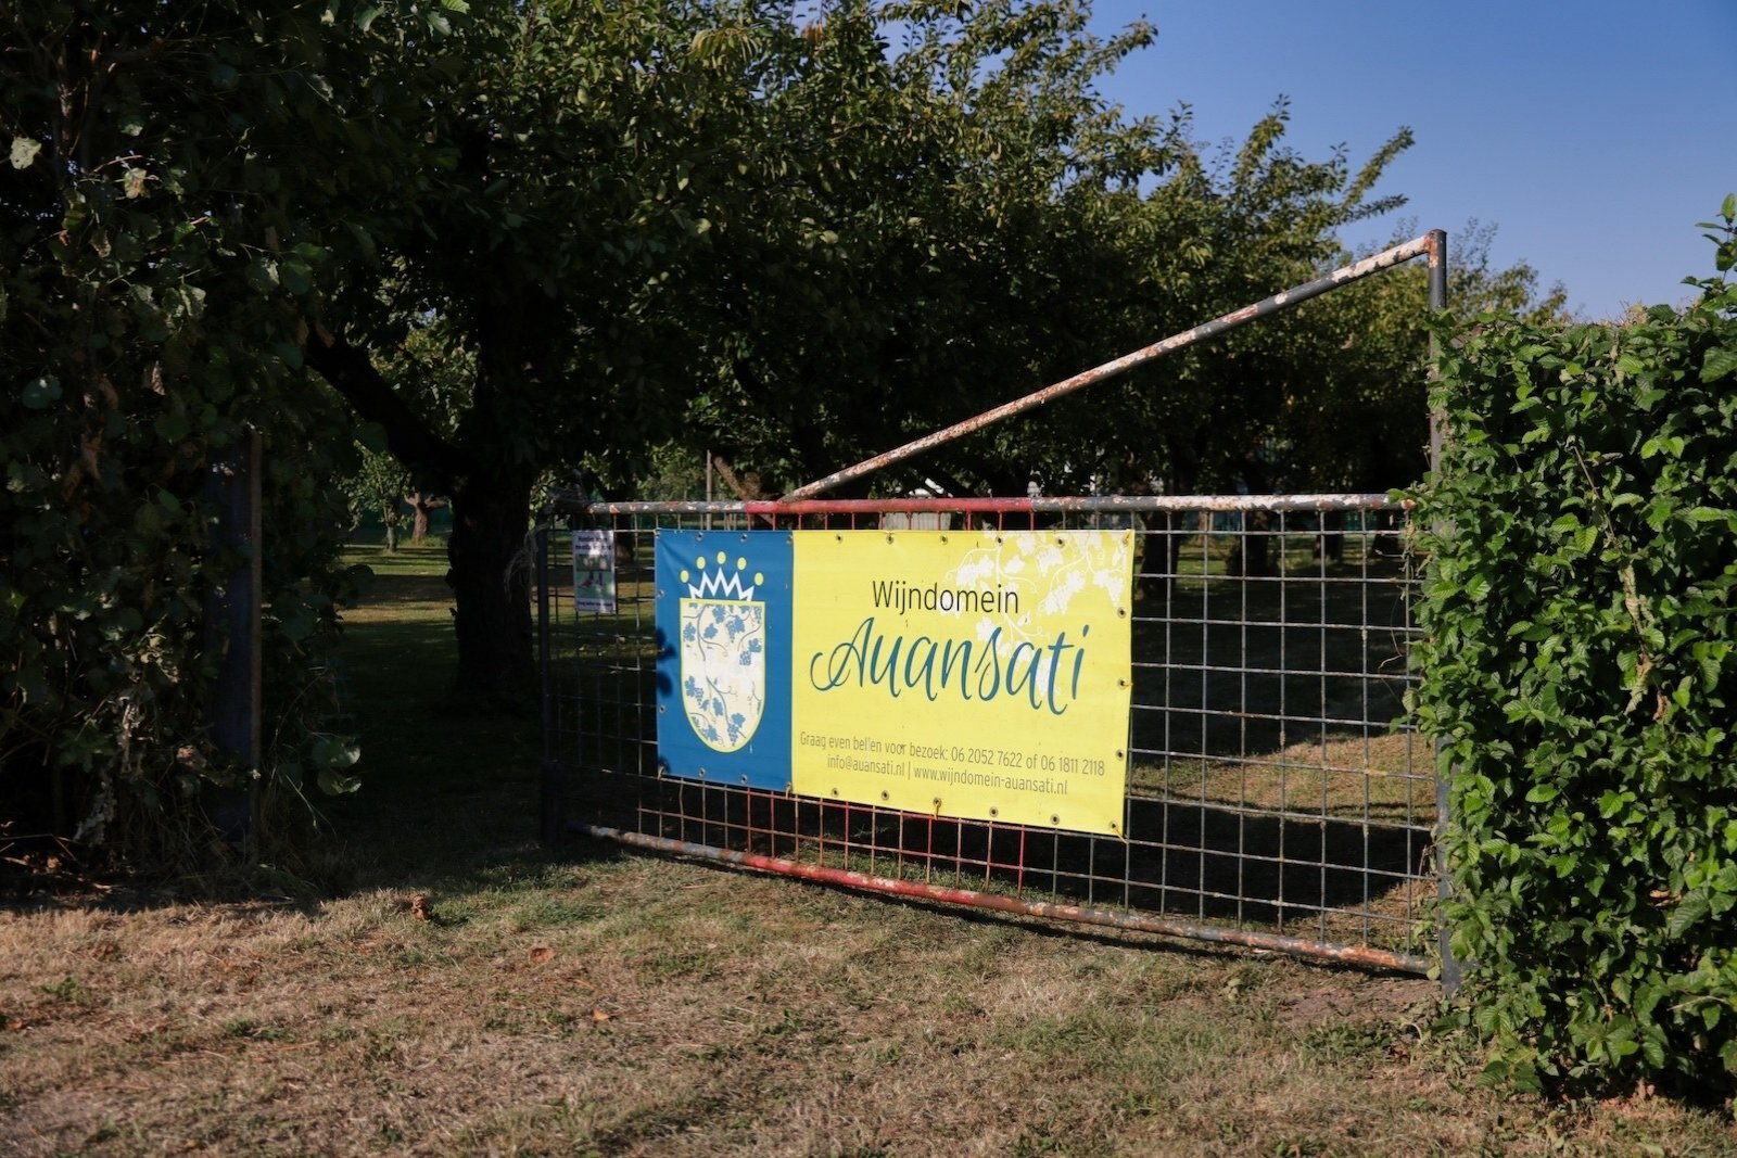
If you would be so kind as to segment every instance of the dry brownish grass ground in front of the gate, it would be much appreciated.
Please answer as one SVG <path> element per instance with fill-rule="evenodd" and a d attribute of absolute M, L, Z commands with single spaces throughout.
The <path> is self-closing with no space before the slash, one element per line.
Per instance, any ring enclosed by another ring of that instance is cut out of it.
<path fill-rule="evenodd" d="M 10 901 L 0 1153 L 1737 1153 L 1480 1087 L 1428 981 L 542 849 L 535 714 L 445 696 L 439 552 L 358 559 L 320 887 Z"/>

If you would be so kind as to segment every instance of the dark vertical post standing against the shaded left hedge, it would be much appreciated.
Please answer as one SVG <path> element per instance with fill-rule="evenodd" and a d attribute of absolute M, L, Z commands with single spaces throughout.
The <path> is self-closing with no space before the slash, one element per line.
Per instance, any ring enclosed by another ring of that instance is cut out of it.
<path fill-rule="evenodd" d="M 217 656 L 217 682 L 208 705 L 210 738 L 247 776 L 245 788 L 229 788 L 208 807 L 224 837 L 252 837 L 259 826 L 259 715 L 261 715 L 261 438 L 247 431 L 229 455 L 212 464 L 205 497 L 217 507 L 215 549 L 240 561 L 205 592 L 205 646 Z"/>

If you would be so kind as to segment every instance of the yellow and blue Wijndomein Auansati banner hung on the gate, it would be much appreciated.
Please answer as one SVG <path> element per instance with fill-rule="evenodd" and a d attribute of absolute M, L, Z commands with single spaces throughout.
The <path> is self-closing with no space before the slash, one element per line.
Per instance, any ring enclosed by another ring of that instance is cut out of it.
<path fill-rule="evenodd" d="M 712 609 L 731 573 L 769 576 L 747 601 L 764 611 Z M 707 575 L 724 578 L 707 587 Z M 756 752 L 731 781 L 1119 833 L 1131 580 L 1129 531 L 660 535 L 660 632 L 681 635 L 664 649 L 660 688 L 679 688 L 681 705 L 660 705 L 660 753 L 670 774 L 719 778 L 721 745 L 750 719 L 764 733 L 783 700 L 782 762 L 769 766 L 773 740 L 743 740 Z M 756 632 L 766 661 L 750 642 L 709 642 Z"/>

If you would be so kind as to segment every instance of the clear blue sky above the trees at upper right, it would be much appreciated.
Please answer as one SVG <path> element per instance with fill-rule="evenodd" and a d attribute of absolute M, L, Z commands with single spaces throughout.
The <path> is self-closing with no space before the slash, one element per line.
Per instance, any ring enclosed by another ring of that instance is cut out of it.
<path fill-rule="evenodd" d="M 1159 30 L 1103 94 L 1129 113 L 1193 106 L 1195 135 L 1242 141 L 1280 94 L 1292 148 L 1353 168 L 1397 128 L 1417 142 L 1377 193 L 1452 236 L 1496 226 L 1499 266 L 1562 281 L 1584 318 L 1681 302 L 1713 274 L 1695 222 L 1737 191 L 1737 0 L 1098 0 L 1094 28 Z"/>

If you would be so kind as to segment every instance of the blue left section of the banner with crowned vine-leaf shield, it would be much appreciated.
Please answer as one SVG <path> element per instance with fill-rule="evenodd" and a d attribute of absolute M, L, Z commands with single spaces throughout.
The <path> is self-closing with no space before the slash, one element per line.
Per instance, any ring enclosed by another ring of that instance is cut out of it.
<path fill-rule="evenodd" d="M 657 747 L 667 776 L 790 786 L 789 531 L 657 533 Z"/>

